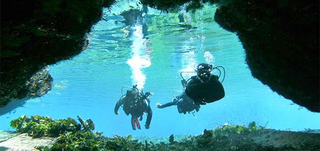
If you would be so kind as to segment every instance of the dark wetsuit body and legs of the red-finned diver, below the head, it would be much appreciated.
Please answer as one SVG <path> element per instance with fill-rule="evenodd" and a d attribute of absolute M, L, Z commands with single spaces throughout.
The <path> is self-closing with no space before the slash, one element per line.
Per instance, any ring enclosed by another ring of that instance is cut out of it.
<path fill-rule="evenodd" d="M 152 118 L 152 110 L 150 107 L 150 100 L 149 98 L 143 98 L 139 97 L 137 100 L 128 100 L 125 97 L 122 97 L 120 100 L 117 101 L 114 107 L 114 112 L 117 112 L 120 105 L 123 104 L 123 111 L 126 115 L 131 114 L 131 125 L 132 129 L 135 130 L 136 127 L 138 129 L 140 128 L 140 124 L 137 120 L 137 117 L 140 117 L 140 120 L 142 120 L 143 113 L 147 114 L 146 121 L 145 121 L 145 127 L 149 128 L 151 118 Z"/>

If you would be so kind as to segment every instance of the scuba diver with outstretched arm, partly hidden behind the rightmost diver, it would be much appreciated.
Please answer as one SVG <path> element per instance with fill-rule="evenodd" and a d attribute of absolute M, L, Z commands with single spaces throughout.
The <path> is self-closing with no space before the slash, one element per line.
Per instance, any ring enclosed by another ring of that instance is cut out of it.
<path fill-rule="evenodd" d="M 167 102 L 165 104 L 160 104 L 160 103 L 156 103 L 156 107 L 158 108 L 164 108 L 164 107 L 168 107 L 168 106 L 172 106 L 172 105 L 176 105 L 178 112 L 179 113 L 186 113 L 190 111 L 193 111 L 195 109 L 195 111 L 199 111 L 200 105 L 199 104 L 195 104 L 194 101 L 188 97 L 185 92 L 182 92 L 180 95 L 178 95 L 177 97 L 174 95 L 173 91 L 173 98 L 171 102 Z M 193 112 L 192 112 L 193 114 Z M 194 114 L 193 114 L 194 115 Z"/>

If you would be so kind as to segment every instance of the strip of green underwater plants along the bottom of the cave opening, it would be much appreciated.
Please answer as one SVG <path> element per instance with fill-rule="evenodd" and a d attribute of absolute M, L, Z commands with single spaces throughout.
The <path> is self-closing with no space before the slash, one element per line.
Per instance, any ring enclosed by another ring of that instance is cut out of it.
<path fill-rule="evenodd" d="M 314 141 L 297 147 L 291 144 L 272 146 L 257 143 L 255 135 L 270 129 L 257 126 L 254 121 L 248 126 L 223 124 L 178 141 L 174 140 L 173 134 L 168 142 L 132 139 L 131 135 L 106 137 L 101 132 L 93 131 L 91 119 L 77 117 L 78 122 L 69 117 L 53 120 L 48 116 L 22 115 L 11 121 L 11 127 L 31 137 L 57 137 L 52 146 L 36 146 L 39 150 L 317 150 L 320 144 Z M 312 139 L 319 138 L 319 134 L 311 136 Z"/>

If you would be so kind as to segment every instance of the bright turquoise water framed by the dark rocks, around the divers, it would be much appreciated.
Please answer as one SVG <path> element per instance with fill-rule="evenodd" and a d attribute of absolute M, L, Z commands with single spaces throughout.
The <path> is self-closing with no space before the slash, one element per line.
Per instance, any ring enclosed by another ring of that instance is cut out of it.
<path fill-rule="evenodd" d="M 34 114 L 54 119 L 90 118 L 95 130 L 106 136 L 197 135 L 224 123 L 247 125 L 251 121 L 281 130 L 320 129 L 319 113 L 292 103 L 251 76 L 237 36 L 213 21 L 214 7 L 193 15 L 180 12 L 185 18 L 183 25 L 179 25 L 178 13 L 150 10 L 144 21 L 127 26 L 119 15 L 126 9 L 114 6 L 114 14 L 94 26 L 89 47 L 81 54 L 48 66 L 54 86 L 47 94 L 2 107 L 0 129 L 14 130 L 9 127 L 10 120 Z M 143 22 L 146 32 L 142 32 Z M 225 68 L 225 97 L 201 105 L 194 116 L 179 114 L 176 106 L 156 108 L 156 102 L 171 101 L 173 90 L 182 90 L 180 71 L 192 70 L 200 62 Z M 130 116 L 122 108 L 118 115 L 113 113 L 121 87 L 132 84 L 154 92 L 149 129 L 143 126 L 145 115 L 140 121 L 142 129 L 132 130 Z"/>

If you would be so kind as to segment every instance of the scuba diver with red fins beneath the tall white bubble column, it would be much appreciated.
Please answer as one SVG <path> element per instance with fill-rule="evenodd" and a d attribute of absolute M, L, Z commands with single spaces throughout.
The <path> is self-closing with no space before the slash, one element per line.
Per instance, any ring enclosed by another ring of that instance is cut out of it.
<path fill-rule="evenodd" d="M 123 86 L 128 87 L 128 86 Z M 121 91 L 123 89 L 121 88 Z M 131 125 L 132 129 L 135 130 L 136 128 L 141 129 L 139 121 L 137 117 L 140 117 L 139 120 L 142 120 L 143 113 L 147 114 L 146 121 L 145 121 L 145 129 L 149 129 L 151 118 L 152 118 L 152 110 L 150 107 L 150 95 L 151 92 L 143 93 L 139 92 L 136 85 L 133 87 L 128 87 L 130 90 L 126 91 L 126 94 L 122 95 L 120 99 L 116 102 L 114 107 L 114 113 L 117 115 L 119 114 L 118 109 L 122 105 L 123 111 L 126 115 L 131 114 Z"/>

